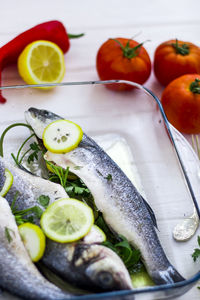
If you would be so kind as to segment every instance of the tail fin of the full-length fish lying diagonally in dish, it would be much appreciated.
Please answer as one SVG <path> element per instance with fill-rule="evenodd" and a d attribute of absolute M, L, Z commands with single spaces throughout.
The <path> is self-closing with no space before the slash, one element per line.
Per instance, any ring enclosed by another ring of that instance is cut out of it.
<path fill-rule="evenodd" d="M 157 285 L 175 283 L 185 280 L 172 265 L 169 265 L 165 270 L 154 272 L 152 274 L 152 279 Z"/>

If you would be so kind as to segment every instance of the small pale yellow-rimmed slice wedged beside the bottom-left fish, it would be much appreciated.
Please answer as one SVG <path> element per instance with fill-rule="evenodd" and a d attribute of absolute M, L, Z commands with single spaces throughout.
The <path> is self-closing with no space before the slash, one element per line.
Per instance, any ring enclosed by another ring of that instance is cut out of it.
<path fill-rule="evenodd" d="M 37 262 L 44 254 L 46 238 L 39 226 L 32 223 L 24 223 L 18 227 L 22 241 L 32 259 Z"/>

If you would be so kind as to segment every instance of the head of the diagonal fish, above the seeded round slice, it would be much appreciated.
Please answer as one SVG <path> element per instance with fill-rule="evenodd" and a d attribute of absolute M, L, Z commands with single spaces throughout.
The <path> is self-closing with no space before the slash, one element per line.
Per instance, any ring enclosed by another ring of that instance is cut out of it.
<path fill-rule="evenodd" d="M 52 122 L 62 119 L 58 115 L 44 109 L 29 108 L 25 111 L 25 119 L 33 128 L 38 138 L 42 139 L 44 129 Z"/>

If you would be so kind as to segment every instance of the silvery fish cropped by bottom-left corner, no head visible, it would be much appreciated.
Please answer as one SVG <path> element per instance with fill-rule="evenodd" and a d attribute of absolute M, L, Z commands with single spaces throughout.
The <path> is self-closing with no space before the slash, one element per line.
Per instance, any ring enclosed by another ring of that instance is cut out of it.
<path fill-rule="evenodd" d="M 2 197 L 0 220 L 0 287 L 25 299 L 69 299 L 70 294 L 48 282 L 32 263 L 10 206 Z"/>

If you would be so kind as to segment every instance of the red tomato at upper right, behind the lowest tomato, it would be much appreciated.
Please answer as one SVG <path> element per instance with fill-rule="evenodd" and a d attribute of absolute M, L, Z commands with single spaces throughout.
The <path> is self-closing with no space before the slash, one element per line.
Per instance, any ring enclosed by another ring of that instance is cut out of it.
<path fill-rule="evenodd" d="M 184 74 L 200 74 L 200 48 L 178 40 L 162 43 L 155 51 L 154 73 L 163 85 Z"/>

